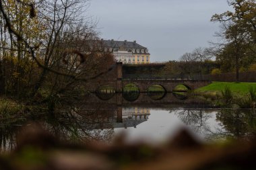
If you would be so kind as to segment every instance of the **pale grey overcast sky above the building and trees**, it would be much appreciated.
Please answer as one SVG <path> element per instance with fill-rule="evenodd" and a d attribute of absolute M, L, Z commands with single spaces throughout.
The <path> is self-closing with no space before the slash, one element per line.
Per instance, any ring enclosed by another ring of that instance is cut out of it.
<path fill-rule="evenodd" d="M 87 14 L 98 19 L 101 37 L 137 40 L 151 61 L 177 60 L 214 41 L 214 13 L 230 9 L 226 0 L 91 0 Z"/>

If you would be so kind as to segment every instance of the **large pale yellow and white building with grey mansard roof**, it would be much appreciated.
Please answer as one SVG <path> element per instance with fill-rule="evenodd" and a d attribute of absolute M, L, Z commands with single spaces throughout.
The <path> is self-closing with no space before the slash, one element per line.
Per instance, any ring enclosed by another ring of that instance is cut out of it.
<path fill-rule="evenodd" d="M 148 48 L 137 44 L 136 41 L 128 42 L 103 40 L 102 45 L 106 50 L 113 52 L 115 59 L 124 64 L 148 64 L 150 63 L 150 53 Z"/>

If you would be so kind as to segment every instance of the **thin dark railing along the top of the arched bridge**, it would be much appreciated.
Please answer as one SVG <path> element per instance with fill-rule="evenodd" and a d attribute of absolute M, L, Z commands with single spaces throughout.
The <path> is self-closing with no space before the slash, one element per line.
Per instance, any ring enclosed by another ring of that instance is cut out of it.
<path fill-rule="evenodd" d="M 201 75 L 151 75 L 151 74 L 124 74 L 125 80 L 205 80 Z"/>

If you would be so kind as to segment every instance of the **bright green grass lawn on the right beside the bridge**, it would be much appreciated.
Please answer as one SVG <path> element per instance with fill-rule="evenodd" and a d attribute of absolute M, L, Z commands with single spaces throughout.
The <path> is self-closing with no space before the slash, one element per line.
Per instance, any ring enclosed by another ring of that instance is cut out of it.
<path fill-rule="evenodd" d="M 251 87 L 256 88 L 256 83 L 213 82 L 210 85 L 196 89 L 195 92 L 216 94 L 221 93 L 225 87 L 229 87 L 232 93 L 236 93 L 237 95 L 247 95 Z"/>

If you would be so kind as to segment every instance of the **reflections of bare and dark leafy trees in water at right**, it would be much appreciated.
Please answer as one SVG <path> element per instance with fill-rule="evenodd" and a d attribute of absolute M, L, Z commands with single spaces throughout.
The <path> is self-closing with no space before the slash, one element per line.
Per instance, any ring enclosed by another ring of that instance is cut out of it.
<path fill-rule="evenodd" d="M 197 134 L 203 134 L 208 140 L 250 139 L 256 133 L 256 113 L 253 110 L 219 110 L 216 113 L 219 126 L 212 128 L 207 123 L 211 118 L 207 110 L 175 110 L 174 112 L 181 121 L 191 126 Z"/>

